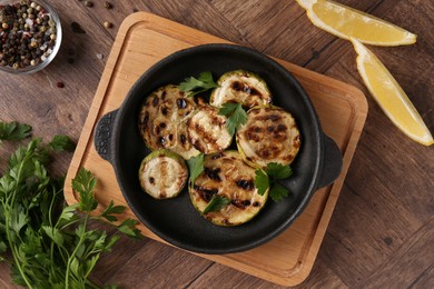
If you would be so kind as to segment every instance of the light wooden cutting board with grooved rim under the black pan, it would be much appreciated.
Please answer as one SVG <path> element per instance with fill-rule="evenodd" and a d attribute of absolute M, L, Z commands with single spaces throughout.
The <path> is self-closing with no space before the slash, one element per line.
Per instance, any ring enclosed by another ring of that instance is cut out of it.
<path fill-rule="evenodd" d="M 95 150 L 95 124 L 105 113 L 119 108 L 140 74 L 161 58 L 184 48 L 223 42 L 228 41 L 146 12 L 125 19 L 68 170 L 65 186 L 68 203 L 78 201 L 70 183 L 78 169 L 85 167 L 98 178 L 96 198 L 100 208 L 110 200 L 127 206 L 111 165 Z M 310 96 L 325 133 L 343 153 L 342 173 L 333 185 L 315 193 L 303 215 L 285 232 L 266 245 L 239 253 L 200 256 L 272 282 L 295 286 L 308 276 L 319 250 L 365 122 L 367 103 L 364 94 L 352 86 L 276 60 L 293 72 Z M 124 217 L 135 218 L 129 209 Z M 140 225 L 139 229 L 145 236 L 164 242 L 145 226 Z"/>

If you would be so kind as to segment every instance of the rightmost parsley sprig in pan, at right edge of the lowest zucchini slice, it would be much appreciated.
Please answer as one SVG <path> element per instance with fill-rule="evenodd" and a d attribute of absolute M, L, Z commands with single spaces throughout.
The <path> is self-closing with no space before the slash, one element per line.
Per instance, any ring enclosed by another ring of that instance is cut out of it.
<path fill-rule="evenodd" d="M 269 197 L 275 202 L 279 202 L 289 196 L 289 190 L 278 180 L 289 178 L 292 175 L 293 170 L 289 166 L 270 162 L 267 163 L 267 168 L 256 170 L 255 187 L 262 196 L 269 189 Z"/>

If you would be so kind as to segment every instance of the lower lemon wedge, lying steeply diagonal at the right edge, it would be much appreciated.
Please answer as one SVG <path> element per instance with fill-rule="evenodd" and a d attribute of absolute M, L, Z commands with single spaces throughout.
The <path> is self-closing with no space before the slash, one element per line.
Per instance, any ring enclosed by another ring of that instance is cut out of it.
<path fill-rule="evenodd" d="M 413 140 L 431 146 L 433 136 L 412 101 L 379 59 L 364 44 L 351 39 L 357 52 L 357 69 L 365 86 L 392 122 Z"/>

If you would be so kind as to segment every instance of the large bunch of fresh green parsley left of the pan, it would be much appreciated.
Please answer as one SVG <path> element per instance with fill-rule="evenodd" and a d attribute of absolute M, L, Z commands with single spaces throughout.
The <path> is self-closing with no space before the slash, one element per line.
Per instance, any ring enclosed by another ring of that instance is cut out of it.
<path fill-rule="evenodd" d="M 31 127 L 0 122 L 0 143 L 30 136 Z M 93 198 L 97 180 L 81 169 L 72 181 L 80 196 L 67 206 L 63 179 L 50 177 L 47 166 L 58 151 L 75 149 L 66 136 L 43 143 L 33 139 L 11 155 L 0 178 L 0 261 L 11 266 L 12 280 L 29 288 L 98 288 L 89 276 L 102 252 L 108 252 L 119 237 L 89 229 L 89 221 L 117 221 L 125 207 L 111 202 L 99 216 Z M 80 211 L 80 213 L 77 212 Z M 92 213 L 92 215 L 93 215 Z M 127 219 L 116 226 L 132 238 L 140 238 L 137 221 Z"/>

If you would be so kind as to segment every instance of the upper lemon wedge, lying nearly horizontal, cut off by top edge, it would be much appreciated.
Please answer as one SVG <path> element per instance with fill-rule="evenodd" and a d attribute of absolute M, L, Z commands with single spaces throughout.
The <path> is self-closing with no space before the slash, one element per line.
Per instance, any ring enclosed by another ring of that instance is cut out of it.
<path fill-rule="evenodd" d="M 355 38 L 366 44 L 384 47 L 416 42 L 416 34 L 351 7 L 328 0 L 297 2 L 316 27 L 339 38 Z"/>

